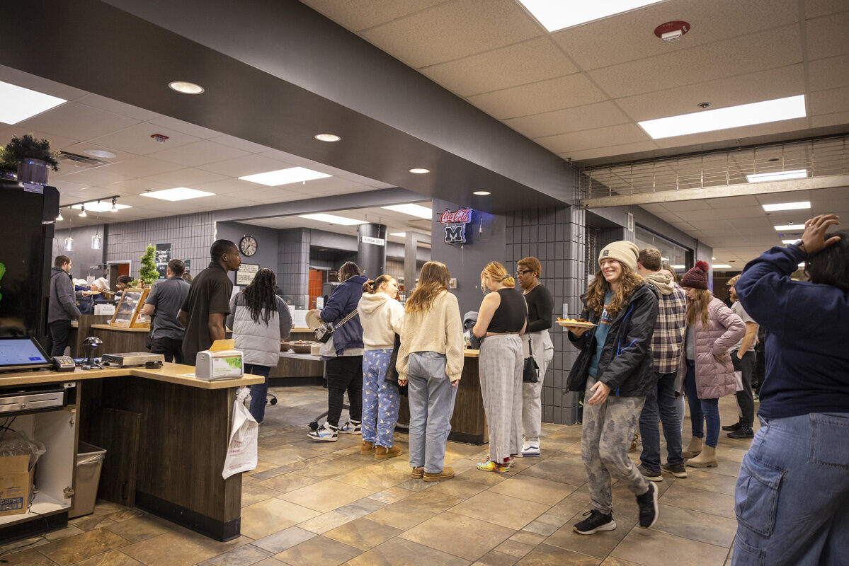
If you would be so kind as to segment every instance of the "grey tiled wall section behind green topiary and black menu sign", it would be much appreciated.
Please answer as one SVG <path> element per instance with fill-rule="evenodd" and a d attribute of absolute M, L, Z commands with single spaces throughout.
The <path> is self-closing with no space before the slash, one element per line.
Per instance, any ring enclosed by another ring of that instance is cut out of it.
<path fill-rule="evenodd" d="M 197 275 L 210 262 L 210 246 L 215 241 L 215 213 L 199 212 L 166 218 L 151 218 L 110 224 L 106 241 L 106 261 L 132 261 L 130 275 L 138 277 L 139 261 L 148 244 L 171 243 L 171 257 L 191 260 L 191 273 Z"/>

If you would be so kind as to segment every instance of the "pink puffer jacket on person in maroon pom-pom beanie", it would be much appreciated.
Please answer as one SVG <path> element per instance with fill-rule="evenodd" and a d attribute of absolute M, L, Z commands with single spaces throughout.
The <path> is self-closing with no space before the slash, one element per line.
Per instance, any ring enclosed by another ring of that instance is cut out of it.
<path fill-rule="evenodd" d="M 694 326 L 695 387 L 699 399 L 717 399 L 733 395 L 737 389 L 734 381 L 734 366 L 728 348 L 745 334 L 745 323 L 721 300 L 711 298 L 707 305 L 709 323 L 707 328 L 696 321 Z M 725 355 L 717 361 L 714 354 Z M 687 361 L 681 356 L 683 376 L 687 375 Z"/>

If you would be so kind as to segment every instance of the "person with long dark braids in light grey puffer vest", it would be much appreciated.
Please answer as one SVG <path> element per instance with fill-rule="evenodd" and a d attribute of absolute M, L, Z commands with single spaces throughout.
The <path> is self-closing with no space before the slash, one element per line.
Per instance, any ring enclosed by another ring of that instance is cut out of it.
<path fill-rule="evenodd" d="M 292 315 L 286 302 L 275 294 L 277 277 L 270 269 L 256 272 L 253 281 L 230 299 L 228 328 L 233 328 L 236 350 L 242 351 L 245 373 L 265 381 L 250 386 L 250 414 L 265 418 L 268 375 L 280 360 L 280 340 L 289 338 Z"/>

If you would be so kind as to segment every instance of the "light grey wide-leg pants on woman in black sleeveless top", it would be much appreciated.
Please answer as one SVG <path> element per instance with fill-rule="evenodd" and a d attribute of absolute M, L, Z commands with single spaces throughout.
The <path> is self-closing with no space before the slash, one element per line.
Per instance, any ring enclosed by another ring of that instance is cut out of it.
<path fill-rule="evenodd" d="M 522 341 L 518 334 L 488 336 L 478 368 L 489 427 L 489 458 L 503 463 L 522 450 Z"/>

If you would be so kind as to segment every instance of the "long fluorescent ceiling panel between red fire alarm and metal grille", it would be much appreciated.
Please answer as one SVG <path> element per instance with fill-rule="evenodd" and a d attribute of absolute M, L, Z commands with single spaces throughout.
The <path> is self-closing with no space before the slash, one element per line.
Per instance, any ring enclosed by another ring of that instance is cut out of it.
<path fill-rule="evenodd" d="M 653 139 L 686 136 L 692 133 L 715 132 L 740 126 L 766 124 L 779 120 L 805 117 L 805 95 L 776 98 L 728 108 L 704 110 L 692 114 L 669 116 L 638 122 Z M 751 180 L 750 180 L 751 181 Z"/>

